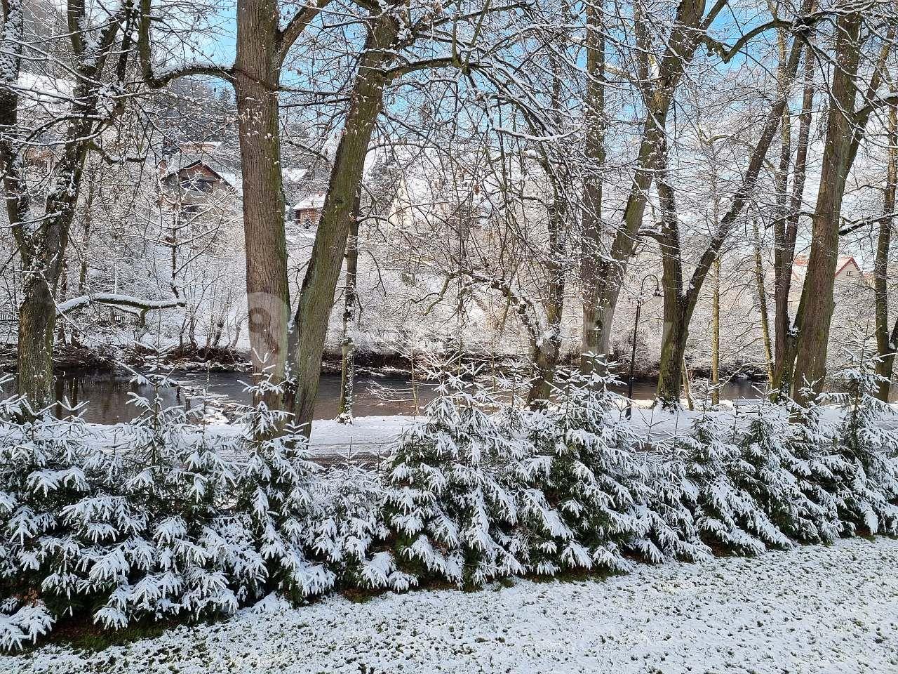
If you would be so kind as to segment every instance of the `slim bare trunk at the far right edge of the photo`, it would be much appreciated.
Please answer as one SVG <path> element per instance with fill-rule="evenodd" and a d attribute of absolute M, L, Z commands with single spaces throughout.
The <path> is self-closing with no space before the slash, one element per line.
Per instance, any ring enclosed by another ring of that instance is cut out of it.
<path fill-rule="evenodd" d="M 885 199 L 883 217 L 879 221 L 879 235 L 876 238 L 876 262 L 873 267 L 873 288 L 876 297 L 876 374 L 883 377 L 877 395 L 884 403 L 889 401 L 892 387 L 895 350 L 898 350 L 898 318 L 890 330 L 889 326 L 889 250 L 892 246 L 894 226 L 895 190 L 898 185 L 898 107 L 889 106 L 888 122 L 888 166 L 885 176 Z"/>

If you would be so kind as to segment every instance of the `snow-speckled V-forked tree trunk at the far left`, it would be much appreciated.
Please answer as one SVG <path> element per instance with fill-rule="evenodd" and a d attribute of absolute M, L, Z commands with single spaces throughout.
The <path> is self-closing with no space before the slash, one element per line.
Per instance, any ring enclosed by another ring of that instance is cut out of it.
<path fill-rule="evenodd" d="M 96 39 L 91 40 L 92 51 L 86 54 L 84 24 L 89 20 L 84 14 L 84 4 L 72 3 L 68 6 L 69 40 L 75 58 L 79 59 L 75 67 L 77 84 L 66 114 L 68 122 L 62 153 L 53 168 L 53 187 L 47 195 L 43 215 L 38 216 L 31 211 L 27 182 L 21 173 L 24 148 L 16 137 L 19 132 L 16 129 L 19 100 L 14 85 L 21 60 L 22 4 L 15 0 L 7 4 L 4 10 L 0 50 L 6 55 L 7 67 L 4 68 L 4 81 L 0 83 L 5 84 L 0 86 L 0 161 L 4 169 L 6 213 L 22 257 L 23 276 L 17 389 L 31 410 L 37 411 L 52 402 L 53 341 L 57 315 L 54 295 L 75 216 L 84 161 L 92 139 L 99 136 L 102 129 L 123 110 L 123 103 L 118 102 L 110 111 L 101 112 L 100 94 L 106 91 L 102 77 L 110 53 L 118 49 L 115 77 L 119 82 L 125 78 L 128 52 L 132 45 L 130 31 L 135 27 L 132 22 L 136 16 L 133 15 L 133 6 L 124 4 L 101 29 L 96 30 Z"/>

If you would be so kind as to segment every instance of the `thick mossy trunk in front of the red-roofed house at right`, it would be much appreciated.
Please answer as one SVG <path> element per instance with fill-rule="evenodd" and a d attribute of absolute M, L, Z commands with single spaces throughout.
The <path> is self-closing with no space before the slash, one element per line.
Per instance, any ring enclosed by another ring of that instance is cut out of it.
<path fill-rule="evenodd" d="M 855 97 L 860 55 L 859 13 L 843 13 L 836 22 L 836 67 L 830 89 L 823 169 L 812 226 L 811 253 L 797 315 L 797 354 L 792 396 L 804 386 L 823 390 L 826 350 L 833 311 L 833 283 L 839 255 L 839 216 L 851 167 L 855 133 Z"/>

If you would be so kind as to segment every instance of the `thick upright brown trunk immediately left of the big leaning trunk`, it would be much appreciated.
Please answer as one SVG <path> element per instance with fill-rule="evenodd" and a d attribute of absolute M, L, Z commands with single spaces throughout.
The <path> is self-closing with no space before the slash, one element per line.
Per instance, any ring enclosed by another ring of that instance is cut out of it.
<path fill-rule="evenodd" d="M 285 378 L 290 295 L 280 164 L 275 0 L 239 0 L 233 86 L 240 129 L 246 296 L 253 377 Z M 265 395 L 269 407 L 281 397 Z"/>

